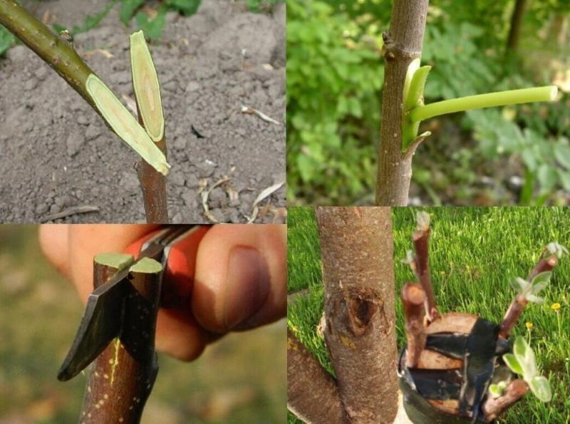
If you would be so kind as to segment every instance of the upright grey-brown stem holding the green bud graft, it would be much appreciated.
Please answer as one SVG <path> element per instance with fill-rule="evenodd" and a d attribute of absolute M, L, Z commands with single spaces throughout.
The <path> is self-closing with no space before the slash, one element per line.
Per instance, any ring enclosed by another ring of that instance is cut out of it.
<path fill-rule="evenodd" d="M 403 87 L 408 65 L 421 56 L 428 0 L 395 0 L 384 34 L 382 127 L 378 150 L 376 205 L 405 206 L 412 157 L 402 152 Z M 417 146 L 416 146 L 417 147 Z"/>

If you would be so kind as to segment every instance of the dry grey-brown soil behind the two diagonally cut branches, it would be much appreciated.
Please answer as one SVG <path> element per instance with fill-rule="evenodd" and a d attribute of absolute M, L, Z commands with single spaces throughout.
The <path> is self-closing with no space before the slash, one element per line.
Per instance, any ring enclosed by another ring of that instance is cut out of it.
<path fill-rule="evenodd" d="M 105 1 L 30 2 L 38 17 L 71 28 Z M 47 13 L 47 14 L 46 14 Z M 172 222 L 247 222 L 264 189 L 285 181 L 285 9 L 254 14 L 244 3 L 202 0 L 194 16 L 167 14 L 152 56 L 161 83 L 172 170 Z M 88 65 L 128 105 L 128 35 L 118 8 L 75 38 Z M 55 72 L 25 46 L 0 59 L 0 222 L 144 222 L 138 157 Z M 279 122 L 242 113 L 260 110 Z M 209 192 L 204 214 L 202 192 Z M 284 220 L 285 187 L 260 203 L 256 222 Z"/>

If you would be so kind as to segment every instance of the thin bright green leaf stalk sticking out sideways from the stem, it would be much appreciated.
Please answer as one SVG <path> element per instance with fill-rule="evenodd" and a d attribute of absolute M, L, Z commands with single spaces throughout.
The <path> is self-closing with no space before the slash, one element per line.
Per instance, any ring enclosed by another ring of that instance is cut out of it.
<path fill-rule="evenodd" d="M 515 105 L 517 103 L 532 103 L 552 101 L 556 98 L 556 86 L 522 88 L 520 90 L 499 91 L 480 95 L 443 100 L 429 105 L 419 106 L 410 112 L 412 122 L 422 121 L 434 116 L 462 110 L 492 108 L 494 106 Z"/>

